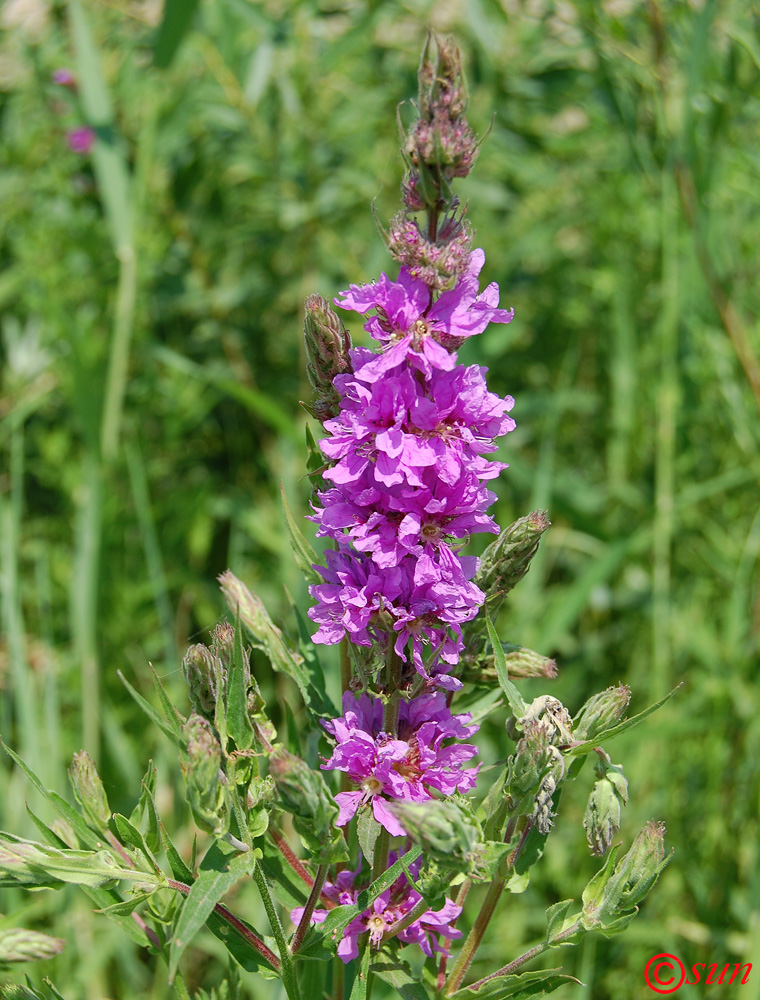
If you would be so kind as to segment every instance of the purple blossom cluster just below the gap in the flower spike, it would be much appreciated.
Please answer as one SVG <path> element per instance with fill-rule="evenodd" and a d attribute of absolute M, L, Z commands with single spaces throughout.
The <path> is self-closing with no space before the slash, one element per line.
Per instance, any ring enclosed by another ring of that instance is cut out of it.
<path fill-rule="evenodd" d="M 471 743 L 444 746 L 448 739 L 461 739 L 477 731 L 470 715 L 452 715 L 442 692 L 402 702 L 398 737 L 382 730 L 382 704 L 364 694 L 343 695 L 343 715 L 323 721 L 338 741 L 324 770 L 344 771 L 359 788 L 340 792 L 338 826 L 344 826 L 359 806 L 372 804 L 375 819 L 393 836 L 406 832 L 388 810 L 386 799 L 425 802 L 431 789 L 444 795 L 466 792 L 477 780 L 478 768 L 463 765 L 477 754 Z"/>

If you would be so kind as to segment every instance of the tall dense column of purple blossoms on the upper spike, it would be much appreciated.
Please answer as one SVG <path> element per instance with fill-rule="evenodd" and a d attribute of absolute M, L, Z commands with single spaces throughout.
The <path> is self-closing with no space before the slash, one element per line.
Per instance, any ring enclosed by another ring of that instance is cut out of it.
<path fill-rule="evenodd" d="M 315 641 L 348 635 L 382 646 L 390 631 L 402 660 L 411 640 L 417 672 L 449 689 L 460 686 L 448 674 L 462 650 L 461 625 L 485 599 L 471 582 L 477 560 L 460 555 L 457 540 L 498 532 L 485 483 L 504 465 L 485 456 L 514 428 L 512 398 L 489 392 L 486 369 L 458 365 L 455 353 L 489 323 L 512 319 L 498 308 L 496 284 L 479 293 L 484 260 L 473 251 L 455 287 L 437 299 L 402 268 L 397 282 L 382 275 L 336 300 L 373 311 L 365 329 L 383 346 L 353 350 L 353 373 L 334 380 L 340 412 L 320 442 L 332 485 L 314 515 L 318 534 L 338 542 L 320 568 L 325 583 L 311 588 Z"/>

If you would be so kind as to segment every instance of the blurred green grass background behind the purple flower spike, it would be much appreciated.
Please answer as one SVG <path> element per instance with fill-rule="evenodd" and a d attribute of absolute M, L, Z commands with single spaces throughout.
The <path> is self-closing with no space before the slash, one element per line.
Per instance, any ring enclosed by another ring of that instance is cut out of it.
<path fill-rule="evenodd" d="M 286 590 L 306 595 L 279 483 L 305 511 L 302 303 L 390 266 L 370 204 L 396 211 L 396 107 L 432 25 L 462 46 L 488 133 L 460 196 L 516 311 L 462 351 L 517 400 L 497 517 L 546 507 L 554 524 L 501 633 L 556 656 L 571 712 L 618 681 L 634 709 L 684 682 L 611 748 L 631 785 L 622 834 L 665 820 L 673 862 L 625 935 L 550 956 L 586 984 L 562 997 L 648 996 L 644 965 L 667 951 L 755 961 L 740 995 L 758 1000 L 760 7 L 192 8 L 173 6 L 184 36 L 157 0 L 0 14 L 0 732 L 61 792 L 86 747 L 127 811 L 152 756 L 171 816 L 176 764 L 116 671 L 147 692 L 151 661 L 181 699 L 179 658 L 221 616 L 227 566 L 292 626 Z M 61 67 L 77 90 L 51 81 Z M 67 146 L 83 125 L 91 155 Z M 493 759 L 502 732 L 485 733 Z M 594 871 L 576 784 L 479 974 Z M 27 799 L 0 763 L 0 825 L 34 837 Z M 160 964 L 75 893 L 6 892 L 0 912 L 67 938 L 32 975 L 68 997 L 166 995 Z M 190 983 L 213 983 L 215 955 L 199 942 Z"/>

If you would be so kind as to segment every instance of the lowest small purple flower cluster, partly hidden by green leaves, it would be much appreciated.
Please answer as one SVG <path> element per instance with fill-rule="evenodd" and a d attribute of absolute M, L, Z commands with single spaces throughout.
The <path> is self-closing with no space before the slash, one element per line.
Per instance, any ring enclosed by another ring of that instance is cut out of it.
<path fill-rule="evenodd" d="M 395 861 L 396 855 L 392 853 L 388 862 L 393 864 Z M 412 878 L 417 877 L 420 866 L 420 860 L 409 866 Z M 325 883 L 322 894 L 341 906 L 355 903 L 359 889 L 354 888 L 354 881 L 360 872 L 361 867 L 354 872 L 340 872 L 335 882 Z M 357 958 L 359 955 L 358 939 L 360 935 L 367 932 L 369 932 L 371 944 L 375 948 L 379 948 L 388 929 L 403 919 L 421 899 L 422 896 L 411 887 L 406 875 L 402 873 L 390 889 L 380 893 L 372 906 L 346 927 L 338 942 L 338 956 L 344 962 L 350 962 L 351 959 Z M 293 923 L 298 924 L 303 911 L 304 907 L 297 907 L 291 911 L 290 919 Z M 428 956 L 432 955 L 434 951 L 444 951 L 445 948 L 438 943 L 437 936 L 441 935 L 447 941 L 461 937 L 462 932 L 450 926 L 461 912 L 461 906 L 457 906 L 452 900 L 447 899 L 439 910 L 426 910 L 421 917 L 400 931 L 398 938 L 404 944 L 418 944 Z M 328 913 L 329 910 L 315 910 L 311 922 L 313 924 L 322 923 Z"/>

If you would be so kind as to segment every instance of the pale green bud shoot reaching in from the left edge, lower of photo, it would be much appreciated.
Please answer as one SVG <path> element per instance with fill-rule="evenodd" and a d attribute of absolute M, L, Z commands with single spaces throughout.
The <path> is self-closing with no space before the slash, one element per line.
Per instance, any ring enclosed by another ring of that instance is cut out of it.
<path fill-rule="evenodd" d="M 64 883 L 101 887 L 122 880 L 146 888 L 166 885 L 159 873 L 125 867 L 110 851 L 70 851 L 0 833 L 0 887 L 60 888 Z"/>

